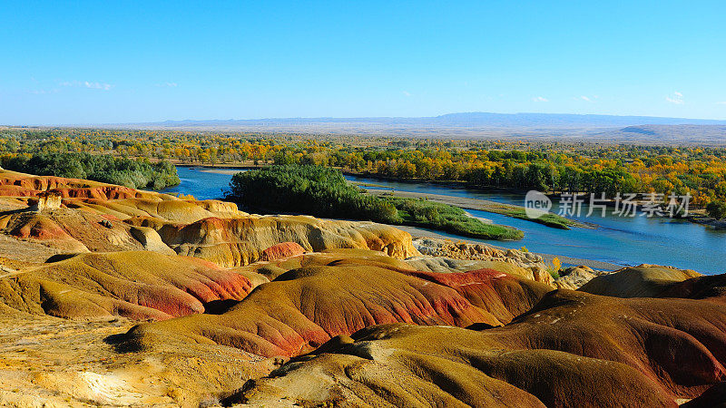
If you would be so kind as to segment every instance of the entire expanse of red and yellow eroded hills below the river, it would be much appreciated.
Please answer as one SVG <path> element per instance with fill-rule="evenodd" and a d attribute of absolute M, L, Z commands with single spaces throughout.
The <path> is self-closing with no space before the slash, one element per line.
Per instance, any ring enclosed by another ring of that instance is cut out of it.
<path fill-rule="evenodd" d="M 723 276 L 578 267 L 553 280 L 534 254 L 5 170 L 0 195 L 4 405 L 723 395 Z"/>

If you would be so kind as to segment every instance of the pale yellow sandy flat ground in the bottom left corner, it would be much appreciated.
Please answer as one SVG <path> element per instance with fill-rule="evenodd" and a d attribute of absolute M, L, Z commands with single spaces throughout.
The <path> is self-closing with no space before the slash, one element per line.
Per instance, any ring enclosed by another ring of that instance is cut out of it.
<path fill-rule="evenodd" d="M 116 350 L 138 322 L 74 321 L 0 306 L 0 406 L 214 405 L 270 372 L 260 356 L 219 345 Z"/>

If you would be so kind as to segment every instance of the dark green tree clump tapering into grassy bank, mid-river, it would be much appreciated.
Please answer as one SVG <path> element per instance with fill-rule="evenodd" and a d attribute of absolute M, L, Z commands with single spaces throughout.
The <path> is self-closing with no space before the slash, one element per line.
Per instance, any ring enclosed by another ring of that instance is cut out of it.
<path fill-rule="evenodd" d="M 464 210 L 423 199 L 382 199 L 363 194 L 339 170 L 314 165 L 270 166 L 232 177 L 230 199 L 246 208 L 362 219 L 435 228 L 488 239 L 520 239 L 522 231 L 488 225 Z"/>

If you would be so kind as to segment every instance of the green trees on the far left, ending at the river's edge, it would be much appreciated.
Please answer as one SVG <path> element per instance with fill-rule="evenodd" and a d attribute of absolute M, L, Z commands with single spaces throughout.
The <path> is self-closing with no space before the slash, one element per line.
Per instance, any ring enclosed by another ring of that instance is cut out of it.
<path fill-rule="evenodd" d="M 163 189 L 179 184 L 176 167 L 169 161 L 151 163 L 89 153 L 38 153 L 5 155 L 0 158 L 7 170 L 40 176 L 96 180 L 133 189 Z"/>

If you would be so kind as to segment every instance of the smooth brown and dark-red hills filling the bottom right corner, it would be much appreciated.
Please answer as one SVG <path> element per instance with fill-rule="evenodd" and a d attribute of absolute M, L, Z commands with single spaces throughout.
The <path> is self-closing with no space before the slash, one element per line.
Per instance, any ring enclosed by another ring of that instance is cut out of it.
<path fill-rule="evenodd" d="M 376 325 L 239 398 L 359 406 L 667 406 L 726 378 L 726 308 L 557 290 L 503 327 Z M 310 375 L 310 373 L 316 373 Z M 306 393 L 315 386 L 315 393 Z M 718 393 L 714 391 L 713 393 Z M 707 398 L 704 398 L 707 400 Z"/>

